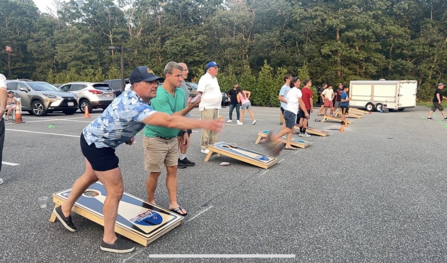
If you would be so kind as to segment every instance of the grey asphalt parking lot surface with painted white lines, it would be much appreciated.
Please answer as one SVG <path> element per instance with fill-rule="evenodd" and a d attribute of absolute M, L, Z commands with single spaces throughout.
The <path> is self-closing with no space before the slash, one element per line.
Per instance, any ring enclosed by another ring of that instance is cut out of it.
<path fill-rule="evenodd" d="M 179 169 L 178 202 L 188 210 L 181 226 L 135 251 L 100 251 L 103 228 L 77 214 L 72 233 L 51 223 L 52 205 L 38 197 L 72 187 L 84 171 L 80 152 L 83 115 L 24 113 L 7 122 L 0 185 L 0 262 L 142 262 L 154 254 L 286 254 L 283 259 L 156 259 L 157 262 L 446 262 L 447 121 L 429 108 L 374 112 L 339 132 L 335 122 L 309 126 L 333 132 L 304 138 L 308 148 L 283 151 L 279 163 L 257 168 L 225 156 L 205 163 L 200 132 L 191 136 Z M 219 141 L 257 152 L 257 132 L 278 131 L 279 109 L 254 107 L 256 125 L 225 123 Z M 221 110 L 228 119 L 228 107 Z M 198 109 L 191 111 L 199 118 Z M 319 116 L 318 116 L 319 117 Z M 233 113 L 236 119 L 236 113 Z M 317 118 L 321 119 L 321 117 Z M 143 134 L 143 133 L 142 133 Z M 117 148 L 125 191 L 145 199 L 148 173 L 142 135 Z M 219 166 L 223 161 L 229 166 Z M 156 191 L 167 207 L 165 173 Z"/>

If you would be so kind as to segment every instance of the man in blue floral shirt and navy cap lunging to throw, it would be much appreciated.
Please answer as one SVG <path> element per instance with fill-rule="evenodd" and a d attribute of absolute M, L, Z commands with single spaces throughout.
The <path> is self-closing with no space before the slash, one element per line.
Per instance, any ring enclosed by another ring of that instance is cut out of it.
<path fill-rule="evenodd" d="M 98 180 L 107 191 L 103 206 L 104 236 L 101 250 L 115 253 L 134 251 L 135 247 L 118 239 L 115 235 L 115 221 L 118 204 L 124 186 L 115 148 L 121 144 L 131 145 L 134 136 L 148 125 L 178 129 L 205 128 L 218 132 L 222 123 L 218 120 L 204 121 L 187 119 L 184 116 L 169 115 L 152 110 L 149 100 L 155 98 L 158 83 L 163 78 L 145 66 L 139 66 L 130 75 L 131 90 L 124 91 L 105 111 L 87 125 L 80 136 L 82 154 L 85 156 L 85 172 L 79 177 L 67 200 L 53 210 L 59 221 L 72 232 L 77 230 L 72 222 L 71 211 L 76 200 Z"/>

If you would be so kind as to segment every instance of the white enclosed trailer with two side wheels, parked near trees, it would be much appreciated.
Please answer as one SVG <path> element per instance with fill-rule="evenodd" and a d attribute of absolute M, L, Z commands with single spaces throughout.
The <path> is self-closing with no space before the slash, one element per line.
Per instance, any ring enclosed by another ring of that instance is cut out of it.
<path fill-rule="evenodd" d="M 353 80 L 349 86 L 350 107 L 380 111 L 383 104 L 399 111 L 416 107 L 416 80 Z"/>

